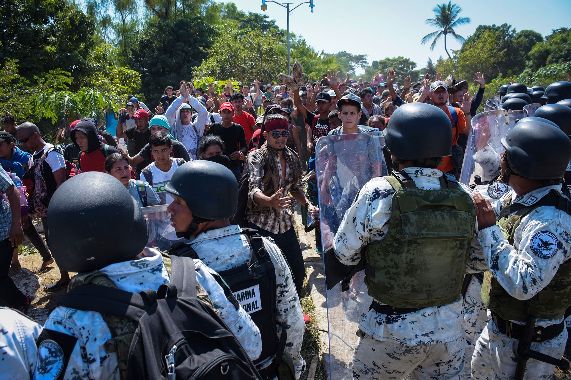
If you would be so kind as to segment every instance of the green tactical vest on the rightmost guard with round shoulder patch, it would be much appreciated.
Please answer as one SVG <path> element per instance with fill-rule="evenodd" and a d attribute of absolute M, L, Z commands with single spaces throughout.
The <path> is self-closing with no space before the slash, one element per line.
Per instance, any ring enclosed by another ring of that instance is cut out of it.
<path fill-rule="evenodd" d="M 511 203 L 511 199 L 504 202 L 497 223 L 511 246 L 521 219 L 537 207 L 553 206 L 571 215 L 571 202 L 554 190 L 531 206 Z M 529 300 L 510 296 L 489 271 L 484 275 L 481 296 L 485 307 L 505 320 L 526 321 L 529 316 L 548 320 L 561 318 L 571 305 L 571 260 L 562 263 L 551 282 Z"/>

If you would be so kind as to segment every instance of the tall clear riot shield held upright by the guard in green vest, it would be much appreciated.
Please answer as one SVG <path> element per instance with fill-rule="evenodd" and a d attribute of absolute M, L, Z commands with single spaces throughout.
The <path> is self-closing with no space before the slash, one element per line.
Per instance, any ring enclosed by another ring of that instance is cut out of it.
<path fill-rule="evenodd" d="M 373 177 L 388 174 L 383 146 L 382 132 L 325 136 L 317 141 L 317 191 L 325 277 L 328 276 L 327 268 L 339 263 L 330 248 L 345 211 L 365 183 Z M 331 273 L 329 271 L 328 280 L 332 278 Z M 361 314 L 368 312 L 372 299 L 367 294 L 363 271 L 352 276 L 347 291 L 341 291 L 341 282 L 333 284 L 335 286 L 326 290 L 329 363 L 325 363 L 325 371 L 331 379 L 352 379 L 351 361 L 357 344 L 355 333 Z"/>

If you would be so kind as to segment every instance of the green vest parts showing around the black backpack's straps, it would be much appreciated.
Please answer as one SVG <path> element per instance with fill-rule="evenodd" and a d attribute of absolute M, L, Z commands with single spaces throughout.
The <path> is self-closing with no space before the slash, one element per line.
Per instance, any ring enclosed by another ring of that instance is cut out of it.
<path fill-rule="evenodd" d="M 163 254 L 163 264 L 167 269 L 168 275 L 171 275 L 171 258 L 170 256 Z M 103 272 L 93 271 L 86 273 L 79 273 L 71 279 L 68 291 L 78 287 L 80 285 L 95 284 L 104 287 L 117 288 L 117 285 L 107 277 Z M 196 297 L 204 304 L 212 308 L 212 302 L 208 298 L 208 294 L 204 288 L 196 281 Z M 119 367 L 120 378 L 124 379 L 127 377 L 127 360 L 129 358 L 129 348 L 131 347 L 131 341 L 133 340 L 133 334 L 137 329 L 137 323 L 130 320 L 129 318 L 116 317 L 109 314 L 101 314 L 103 320 L 107 324 L 111 332 L 111 339 L 104 343 L 105 353 L 116 353 L 117 363 Z"/>

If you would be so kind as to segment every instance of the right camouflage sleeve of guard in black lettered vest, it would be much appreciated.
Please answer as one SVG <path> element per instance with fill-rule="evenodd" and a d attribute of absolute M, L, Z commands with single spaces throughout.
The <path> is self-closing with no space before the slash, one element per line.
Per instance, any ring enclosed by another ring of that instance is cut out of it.
<path fill-rule="evenodd" d="M 301 357 L 301 344 L 305 332 L 305 322 L 301 304 L 297 297 L 293 277 L 282 252 L 274 243 L 264 238 L 264 246 L 270 253 L 276 271 L 276 320 L 287 330 L 286 352 L 293 359 L 296 378 L 299 379 L 305 361 Z"/>

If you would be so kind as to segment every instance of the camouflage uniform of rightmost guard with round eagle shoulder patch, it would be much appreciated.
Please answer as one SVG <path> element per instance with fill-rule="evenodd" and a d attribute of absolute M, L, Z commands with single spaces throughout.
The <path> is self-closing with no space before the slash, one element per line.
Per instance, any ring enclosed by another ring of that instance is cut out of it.
<path fill-rule="evenodd" d="M 522 197 L 509 191 L 492 206 L 496 215 L 506 199 L 514 203 L 531 206 L 539 201 L 550 190 L 560 191 L 561 185 L 541 187 L 530 191 Z M 541 206 L 520 219 L 516 228 L 514 244 L 511 246 L 502 234 L 499 226 L 485 228 L 478 232 L 486 262 L 490 272 L 501 286 L 518 300 L 528 300 L 550 283 L 560 264 L 571 258 L 571 216 L 551 206 Z M 546 232 L 554 236 L 558 244 L 550 248 L 538 250 L 532 248 L 536 235 Z M 556 320 L 537 319 L 536 326 L 558 324 L 563 317 Z M 514 321 L 515 322 L 515 321 Z M 525 321 L 517 321 L 524 325 Z M 544 342 L 533 342 L 532 350 L 560 357 L 565 349 L 567 330 Z M 496 324 L 489 321 L 476 343 L 472 356 L 472 377 L 475 379 L 509 379 L 516 370 L 514 352 L 517 340 L 501 334 Z M 492 354 L 493 353 L 493 354 Z M 526 379 L 550 379 L 554 366 L 537 360 L 529 360 L 526 366 Z"/>

